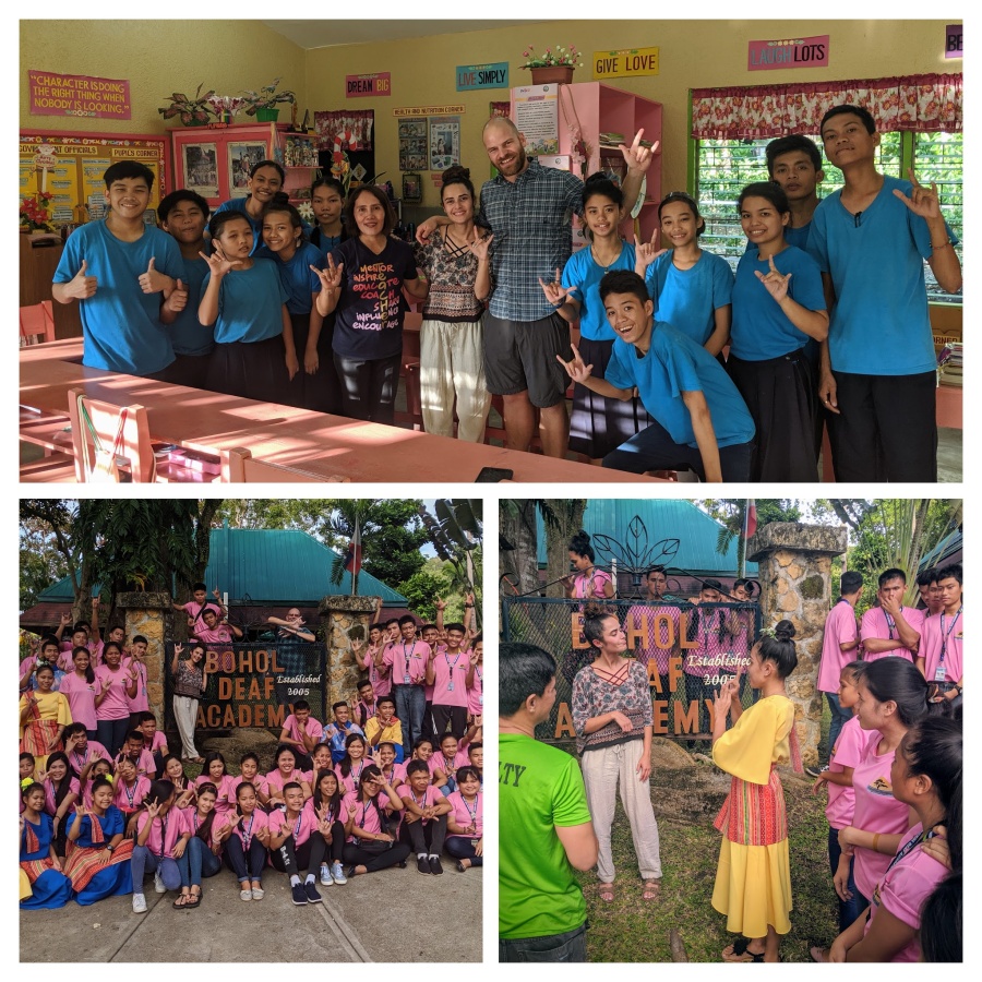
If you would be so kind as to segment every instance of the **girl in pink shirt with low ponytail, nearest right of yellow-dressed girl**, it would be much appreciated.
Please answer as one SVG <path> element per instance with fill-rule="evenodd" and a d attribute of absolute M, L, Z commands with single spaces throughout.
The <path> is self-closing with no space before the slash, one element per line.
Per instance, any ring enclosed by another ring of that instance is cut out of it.
<path fill-rule="evenodd" d="M 855 807 L 852 824 L 839 833 L 842 855 L 834 883 L 839 897 L 850 899 L 849 857 L 854 853 L 852 893 L 867 907 L 909 826 L 907 805 L 891 793 L 894 755 L 908 729 L 929 715 L 938 715 L 942 707 L 931 702 L 924 676 L 903 658 L 866 662 L 857 690 L 860 726 L 871 736 L 852 771 Z"/>

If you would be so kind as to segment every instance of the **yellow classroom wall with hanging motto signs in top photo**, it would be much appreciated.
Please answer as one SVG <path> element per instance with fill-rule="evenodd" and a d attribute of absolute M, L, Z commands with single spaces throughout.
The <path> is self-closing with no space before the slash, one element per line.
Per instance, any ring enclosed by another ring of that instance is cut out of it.
<path fill-rule="evenodd" d="M 944 58 L 945 26 L 953 20 L 957 19 L 556 21 L 306 52 L 254 21 L 130 21 L 124 25 L 25 21 L 21 24 L 21 127 L 158 132 L 164 124 L 156 109 L 164 105 L 164 96 L 175 89 L 193 91 L 199 82 L 204 82 L 206 88 L 236 94 L 279 75 L 284 87 L 297 92 L 301 117 L 307 108 L 374 109 L 376 171 L 384 171 L 397 188 L 397 120 L 393 109 L 465 106 L 462 157 L 480 185 L 489 172 L 480 140 L 488 104 L 506 100 L 508 92 L 501 88 L 458 93 L 456 65 L 507 61 L 511 85 L 522 85 L 529 76 L 518 65 L 522 51 L 529 44 L 539 51 L 572 44 L 587 56 L 599 50 L 658 47 L 659 75 L 623 79 L 613 84 L 663 104 L 662 189 L 668 191 L 685 187 L 690 88 L 960 72 L 960 60 Z M 747 41 L 787 37 L 791 34 L 789 27 L 795 37 L 830 36 L 828 68 L 749 71 Z M 118 44 L 113 44 L 116 35 Z M 584 61 L 575 81 L 592 81 L 588 58 Z M 133 118 L 119 123 L 31 116 L 24 85 L 28 69 L 129 79 Z M 345 75 L 368 72 L 390 72 L 393 94 L 347 99 Z M 239 119 L 246 121 L 248 117 Z M 439 204 L 428 176 L 423 193 L 424 205 Z"/>

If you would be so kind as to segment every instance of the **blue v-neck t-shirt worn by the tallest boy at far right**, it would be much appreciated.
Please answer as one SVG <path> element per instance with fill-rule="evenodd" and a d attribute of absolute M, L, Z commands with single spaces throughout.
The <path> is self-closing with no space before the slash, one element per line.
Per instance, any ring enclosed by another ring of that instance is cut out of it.
<path fill-rule="evenodd" d="M 927 315 L 923 260 L 931 255 L 927 223 L 894 190 L 910 196 L 910 181 L 884 177 L 859 216 L 841 191 L 816 208 L 809 252 L 831 275 L 836 306 L 828 328 L 831 367 L 863 375 L 912 375 L 937 362 Z M 957 242 L 948 228 L 948 236 Z"/>

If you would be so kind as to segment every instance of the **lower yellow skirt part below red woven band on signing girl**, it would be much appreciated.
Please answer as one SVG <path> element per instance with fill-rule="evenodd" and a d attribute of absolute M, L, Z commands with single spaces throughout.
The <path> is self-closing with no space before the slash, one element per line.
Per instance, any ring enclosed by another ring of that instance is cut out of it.
<path fill-rule="evenodd" d="M 791 930 L 791 864 L 788 840 L 742 846 L 723 837 L 712 888 L 712 907 L 727 915 L 727 930 L 764 937 L 768 924 L 778 934 Z"/>

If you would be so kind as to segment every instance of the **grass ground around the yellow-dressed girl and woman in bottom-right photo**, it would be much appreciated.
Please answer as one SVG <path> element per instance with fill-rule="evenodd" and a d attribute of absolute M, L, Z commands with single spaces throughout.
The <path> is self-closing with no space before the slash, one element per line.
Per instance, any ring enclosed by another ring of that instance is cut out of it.
<path fill-rule="evenodd" d="M 823 718 L 824 751 L 828 708 Z M 720 836 L 712 821 L 729 790 L 729 776 L 710 764 L 694 762 L 674 768 L 659 766 L 659 747 L 651 773 L 651 801 L 661 839 L 661 897 L 642 899 L 631 828 L 618 802 L 613 826 L 615 895 L 603 903 L 596 873 L 579 874 L 587 899 L 590 961 L 672 961 L 669 931 L 676 929 L 690 961 L 720 961 L 733 939 L 726 918 L 711 905 Z M 824 753 L 822 754 L 824 759 Z M 791 890 L 794 909 L 791 933 L 781 943 L 782 961 L 811 961 L 812 944 L 828 944 L 838 933 L 838 908 L 828 870 L 825 794 L 811 793 L 811 780 L 781 773 L 788 805 L 791 850 Z"/>

